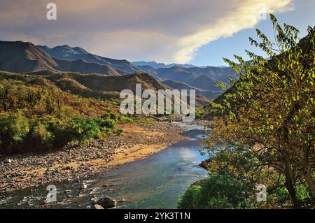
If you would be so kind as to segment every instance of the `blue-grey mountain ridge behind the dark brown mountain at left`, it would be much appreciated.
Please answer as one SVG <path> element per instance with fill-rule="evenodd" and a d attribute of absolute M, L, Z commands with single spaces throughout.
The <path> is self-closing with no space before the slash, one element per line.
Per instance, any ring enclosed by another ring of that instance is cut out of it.
<path fill-rule="evenodd" d="M 137 68 L 137 66 L 134 66 L 134 64 L 128 62 L 125 59 L 111 59 L 101 57 L 87 52 L 83 48 L 79 47 L 71 48 L 71 46 L 69 45 L 59 45 L 55 48 L 48 48 L 48 46 L 46 45 L 38 45 L 37 47 L 48 53 L 48 55 L 50 55 L 51 57 L 55 57 L 57 59 L 71 61 L 82 59 L 85 62 L 113 66 L 114 68 L 119 69 L 120 71 L 123 71 L 125 73 L 142 72 L 141 69 Z"/>

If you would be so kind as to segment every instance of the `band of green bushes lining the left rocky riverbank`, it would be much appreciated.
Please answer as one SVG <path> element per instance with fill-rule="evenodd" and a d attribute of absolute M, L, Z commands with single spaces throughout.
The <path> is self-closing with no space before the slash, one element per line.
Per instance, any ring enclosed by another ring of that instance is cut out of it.
<path fill-rule="evenodd" d="M 113 132 L 110 117 L 56 117 L 45 115 L 29 120 L 22 113 L 0 114 L 0 153 L 30 152 L 59 148 L 71 141 L 83 143 Z M 122 134 L 121 129 L 114 134 Z"/>

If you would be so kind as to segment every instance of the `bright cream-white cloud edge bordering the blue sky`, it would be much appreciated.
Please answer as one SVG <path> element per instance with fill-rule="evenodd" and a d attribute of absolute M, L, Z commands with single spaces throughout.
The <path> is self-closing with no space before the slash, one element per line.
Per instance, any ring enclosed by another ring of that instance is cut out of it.
<path fill-rule="evenodd" d="M 228 15 L 212 22 L 209 26 L 195 34 L 184 36 L 179 39 L 179 50 L 174 55 L 174 60 L 179 63 L 190 62 L 198 48 L 202 45 L 215 41 L 221 37 L 232 36 L 242 29 L 254 27 L 259 21 L 258 6 L 265 4 L 265 13 L 274 13 L 275 10 L 284 10 L 290 0 L 274 1 L 243 1 L 235 10 Z M 286 8 L 288 9 L 288 8 Z"/>

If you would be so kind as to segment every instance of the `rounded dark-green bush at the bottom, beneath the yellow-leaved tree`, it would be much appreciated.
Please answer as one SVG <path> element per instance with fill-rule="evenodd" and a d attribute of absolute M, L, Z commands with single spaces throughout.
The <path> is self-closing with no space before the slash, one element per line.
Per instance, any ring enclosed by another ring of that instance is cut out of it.
<path fill-rule="evenodd" d="M 179 200 L 179 208 L 248 208 L 253 194 L 249 182 L 228 173 L 210 174 L 191 185 Z"/>

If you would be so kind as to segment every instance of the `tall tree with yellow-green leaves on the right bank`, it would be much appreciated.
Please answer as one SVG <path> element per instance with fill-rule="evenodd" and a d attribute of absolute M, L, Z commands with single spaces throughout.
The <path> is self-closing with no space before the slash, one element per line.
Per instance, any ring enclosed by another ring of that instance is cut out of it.
<path fill-rule="evenodd" d="M 214 123 L 209 151 L 221 145 L 241 146 L 260 161 L 285 176 L 285 186 L 295 206 L 297 182 L 307 185 L 315 199 L 315 29 L 309 27 L 298 41 L 299 31 L 279 25 L 270 15 L 275 43 L 257 29 L 260 41 L 249 38 L 270 59 L 253 52 L 246 62 L 225 62 L 239 73 L 239 80 L 225 94 L 223 116 Z"/>

